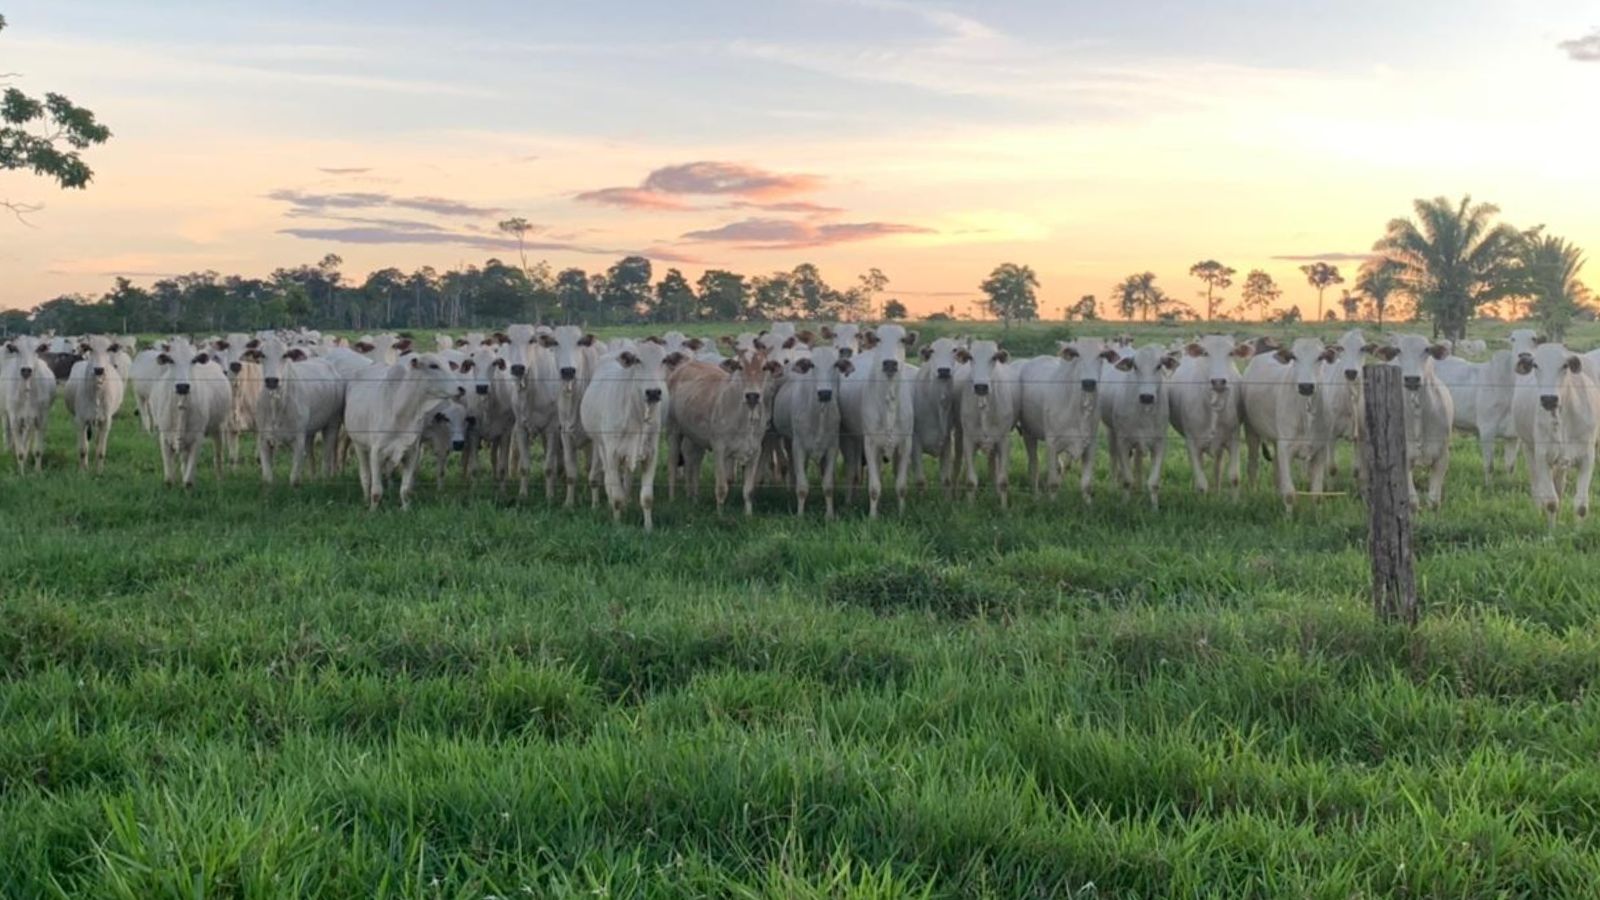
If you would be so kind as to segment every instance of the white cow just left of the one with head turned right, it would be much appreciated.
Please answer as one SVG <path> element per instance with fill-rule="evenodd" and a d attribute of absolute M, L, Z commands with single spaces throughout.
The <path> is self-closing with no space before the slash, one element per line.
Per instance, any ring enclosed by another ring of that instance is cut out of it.
<path fill-rule="evenodd" d="M 339 428 L 344 424 L 344 376 L 325 359 L 290 348 L 278 338 L 250 341 L 250 362 L 259 372 L 256 396 L 256 458 L 261 480 L 272 484 L 272 458 L 280 447 L 293 448 L 290 485 L 299 485 L 307 453 L 322 436 L 323 472 L 338 464 Z M 315 463 L 312 463 L 315 468 Z"/>

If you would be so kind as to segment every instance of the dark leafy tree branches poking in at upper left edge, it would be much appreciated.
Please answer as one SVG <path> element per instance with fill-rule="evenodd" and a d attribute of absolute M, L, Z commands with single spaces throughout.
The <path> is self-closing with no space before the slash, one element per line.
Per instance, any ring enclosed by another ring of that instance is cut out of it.
<path fill-rule="evenodd" d="M 5 30 L 0 16 L 0 32 Z M 38 99 L 6 85 L 10 74 L 0 74 L 0 171 L 32 171 L 54 179 L 64 189 L 85 187 L 94 171 L 83 162 L 82 151 L 110 139 L 110 128 L 94 114 L 62 94 L 46 93 Z M 34 203 L 0 199 L 0 208 L 18 216 L 37 211 Z"/>

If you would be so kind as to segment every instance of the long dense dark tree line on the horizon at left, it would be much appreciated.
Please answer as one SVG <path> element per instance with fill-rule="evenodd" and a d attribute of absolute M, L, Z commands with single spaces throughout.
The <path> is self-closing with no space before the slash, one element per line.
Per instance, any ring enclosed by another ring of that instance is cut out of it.
<path fill-rule="evenodd" d="M 338 255 L 275 269 L 264 279 L 190 272 L 149 287 L 118 277 L 99 296 L 64 295 L 29 311 L 0 312 L 0 333 L 250 331 L 301 325 L 322 330 L 474 328 L 506 322 L 586 325 L 704 320 L 904 317 L 906 304 L 878 296 L 888 277 L 872 269 L 838 288 L 816 266 L 747 277 L 710 269 L 690 282 L 678 269 L 658 280 L 650 259 L 626 256 L 603 272 L 547 263 L 488 259 L 438 272 L 379 269 L 352 280 Z"/>

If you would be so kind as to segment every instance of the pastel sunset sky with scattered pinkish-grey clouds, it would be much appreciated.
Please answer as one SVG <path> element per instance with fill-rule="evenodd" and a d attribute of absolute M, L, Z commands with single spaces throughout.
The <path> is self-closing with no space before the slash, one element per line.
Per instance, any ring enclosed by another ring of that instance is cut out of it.
<path fill-rule="evenodd" d="M 998 263 L 1042 311 L 1192 263 L 1354 274 L 1414 197 L 1600 253 L 1594 0 L 0 0 L 0 72 L 115 133 L 0 175 L 0 307 L 339 253 L 360 280 L 643 253 L 882 267 L 914 312 Z M 1242 280 L 1242 279 L 1240 279 Z M 1590 283 L 1600 280 L 1589 272 Z M 1237 288 L 1230 291 L 1237 295 Z"/>

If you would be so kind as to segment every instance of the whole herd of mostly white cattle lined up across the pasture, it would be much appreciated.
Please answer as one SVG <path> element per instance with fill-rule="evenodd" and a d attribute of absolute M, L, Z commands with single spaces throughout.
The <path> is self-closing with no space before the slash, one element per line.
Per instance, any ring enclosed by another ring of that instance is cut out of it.
<path fill-rule="evenodd" d="M 939 338 L 918 348 L 917 333 L 899 325 L 813 331 L 773 323 L 715 346 L 677 331 L 600 341 L 571 325 L 512 325 L 437 341 L 424 352 L 398 335 L 352 343 L 296 330 L 171 338 L 136 351 L 131 338 L 106 335 L 16 336 L 0 357 L 3 437 L 19 471 L 30 463 L 38 469 L 59 384 L 80 466 L 88 469 L 93 456 L 104 468 L 114 416 L 131 388 L 136 415 L 157 436 L 166 484 L 194 484 L 205 439 L 219 474 L 224 458 L 237 464 L 246 432 L 254 434 L 264 480 L 272 482 L 274 456 L 283 450 L 291 453 L 290 482 L 299 484 L 317 468 L 320 437 L 323 474 L 354 455 L 374 508 L 395 471 L 400 501 L 410 501 L 422 447 L 432 448 L 440 479 L 453 452 L 462 455 L 467 477 L 486 452 L 496 484 L 515 474 L 525 496 L 538 439 L 547 498 L 563 482 L 573 504 L 587 456 L 592 496 L 603 485 L 616 517 L 640 479 L 650 528 L 662 437 L 669 495 L 680 480 L 698 495 L 709 453 L 718 511 L 736 477 L 749 514 L 758 480 L 778 474 L 792 477 L 803 514 L 816 463 L 832 517 L 840 461 L 846 498 L 866 469 L 877 516 L 890 472 L 904 509 L 910 477 L 926 484 L 923 456 L 938 460 L 947 490 L 958 461 L 976 493 L 976 456 L 984 453 L 1005 506 L 1013 432 L 1021 434 L 1035 490 L 1043 447 L 1045 487 L 1059 488 L 1066 461 L 1077 466 L 1088 501 L 1104 426 L 1114 477 L 1125 490 L 1142 484 L 1152 506 L 1176 431 L 1195 490 L 1226 482 L 1237 496 L 1243 448 L 1251 484 L 1262 458 L 1274 463 L 1277 493 L 1290 509 L 1294 460 L 1307 461 L 1317 495 L 1334 474 L 1336 448 L 1360 444 L 1362 365 L 1371 359 L 1402 370 L 1406 461 L 1427 472 L 1430 506 L 1443 500 L 1451 432 L 1464 431 L 1480 442 L 1485 479 L 1494 472 L 1498 444 L 1507 471 L 1518 448 L 1526 450 L 1533 500 L 1554 522 L 1568 469 L 1578 472 L 1576 514 L 1587 514 L 1600 421 L 1600 351 L 1570 352 L 1528 330 L 1514 331 L 1509 348 L 1483 362 L 1416 335 L 1371 344 L 1358 330 L 1331 344 L 1298 338 L 1286 346 L 1222 335 L 1138 348 L 1078 338 L 1056 354 L 1019 360 L 990 340 Z M 1486 351 L 1477 343 L 1469 352 Z M 1355 460 L 1360 485 L 1360 453 Z"/>

